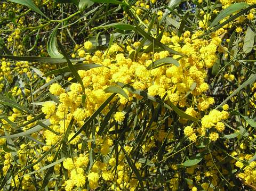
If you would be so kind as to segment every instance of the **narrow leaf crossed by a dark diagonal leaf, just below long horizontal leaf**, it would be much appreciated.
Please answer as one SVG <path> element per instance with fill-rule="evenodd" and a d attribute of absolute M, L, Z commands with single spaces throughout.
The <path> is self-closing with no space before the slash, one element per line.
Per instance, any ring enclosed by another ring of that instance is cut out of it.
<path fill-rule="evenodd" d="M 100 65 L 100 64 L 75 64 L 73 66 L 76 70 L 89 70 L 92 68 L 104 67 L 103 65 Z M 66 73 L 66 72 L 70 72 L 70 71 L 71 71 L 70 68 L 67 66 L 67 67 L 63 67 L 60 69 L 56 69 L 56 70 L 47 72 L 44 74 L 44 76 L 49 76 L 51 74 L 58 74 L 58 73 Z"/>

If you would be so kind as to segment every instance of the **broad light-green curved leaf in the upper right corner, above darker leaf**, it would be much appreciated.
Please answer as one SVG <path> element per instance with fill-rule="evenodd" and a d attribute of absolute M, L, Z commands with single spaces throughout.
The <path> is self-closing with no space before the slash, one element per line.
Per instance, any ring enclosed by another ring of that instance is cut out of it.
<path fill-rule="evenodd" d="M 227 7 L 226 9 L 222 10 L 217 16 L 216 18 L 212 21 L 212 23 L 210 24 L 209 28 L 214 27 L 216 24 L 218 24 L 219 21 L 221 21 L 222 19 L 226 18 L 227 16 L 235 13 L 236 11 L 239 11 L 241 9 L 246 8 L 247 6 L 249 6 L 249 4 L 247 3 L 234 3 L 231 4 L 229 7 Z"/>

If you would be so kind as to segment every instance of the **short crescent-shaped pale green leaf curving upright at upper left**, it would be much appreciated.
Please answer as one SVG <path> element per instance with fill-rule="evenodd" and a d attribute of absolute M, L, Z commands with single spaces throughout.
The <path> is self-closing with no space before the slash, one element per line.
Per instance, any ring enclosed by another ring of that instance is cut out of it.
<path fill-rule="evenodd" d="M 57 30 L 59 24 L 53 29 L 48 41 L 47 41 L 47 52 L 51 57 L 62 59 L 63 55 L 59 53 L 57 49 Z"/>

